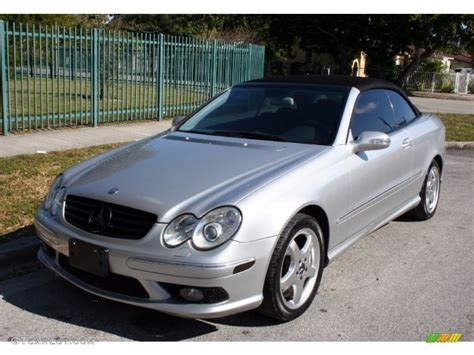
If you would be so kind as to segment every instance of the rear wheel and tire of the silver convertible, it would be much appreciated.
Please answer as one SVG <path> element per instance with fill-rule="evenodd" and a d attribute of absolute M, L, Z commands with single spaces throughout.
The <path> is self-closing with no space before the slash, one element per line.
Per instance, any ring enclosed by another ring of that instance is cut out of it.
<path fill-rule="evenodd" d="M 433 180 L 432 174 L 434 174 L 434 180 Z M 434 216 L 438 208 L 440 193 L 441 193 L 441 169 L 439 167 L 439 164 L 435 160 L 433 160 L 431 162 L 430 167 L 428 168 L 428 172 L 426 173 L 425 180 L 423 182 L 423 187 L 421 188 L 421 191 L 420 191 L 421 201 L 418 204 L 418 206 L 416 206 L 408 214 L 411 217 L 420 221 L 426 221 L 430 219 L 431 217 Z"/>

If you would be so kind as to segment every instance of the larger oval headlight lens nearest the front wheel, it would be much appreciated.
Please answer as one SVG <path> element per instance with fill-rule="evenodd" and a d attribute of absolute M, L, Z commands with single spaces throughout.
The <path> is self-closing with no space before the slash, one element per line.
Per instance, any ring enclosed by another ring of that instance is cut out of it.
<path fill-rule="evenodd" d="M 242 215 L 235 207 L 220 207 L 205 215 L 193 233 L 196 249 L 215 248 L 229 240 L 239 229 Z"/>

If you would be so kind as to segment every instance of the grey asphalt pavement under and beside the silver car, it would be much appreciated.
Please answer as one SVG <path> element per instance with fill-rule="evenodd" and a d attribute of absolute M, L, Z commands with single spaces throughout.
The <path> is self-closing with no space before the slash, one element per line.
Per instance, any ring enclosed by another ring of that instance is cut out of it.
<path fill-rule="evenodd" d="M 300 318 L 255 312 L 190 320 L 104 300 L 47 270 L 0 282 L 0 341 L 474 340 L 474 154 L 448 155 L 436 216 L 401 218 L 357 242 L 325 270 Z M 245 287 L 245 285 L 242 285 Z"/>

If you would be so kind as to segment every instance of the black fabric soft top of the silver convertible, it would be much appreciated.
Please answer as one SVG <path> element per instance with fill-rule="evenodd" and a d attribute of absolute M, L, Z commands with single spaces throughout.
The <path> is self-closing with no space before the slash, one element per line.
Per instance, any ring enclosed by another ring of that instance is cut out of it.
<path fill-rule="evenodd" d="M 345 75 L 297 75 L 297 76 L 277 76 L 257 80 L 247 81 L 244 84 L 251 83 L 275 83 L 275 84 L 305 84 L 305 85 L 331 85 L 355 87 L 360 91 L 370 89 L 391 89 L 401 92 L 400 88 L 389 81 L 361 78 Z"/>

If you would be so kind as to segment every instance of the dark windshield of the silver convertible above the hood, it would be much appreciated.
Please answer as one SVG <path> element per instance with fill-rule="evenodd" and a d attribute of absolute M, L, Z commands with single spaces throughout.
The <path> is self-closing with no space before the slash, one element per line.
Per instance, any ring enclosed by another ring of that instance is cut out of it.
<path fill-rule="evenodd" d="M 331 145 L 348 88 L 237 86 L 186 120 L 181 132 Z"/>

